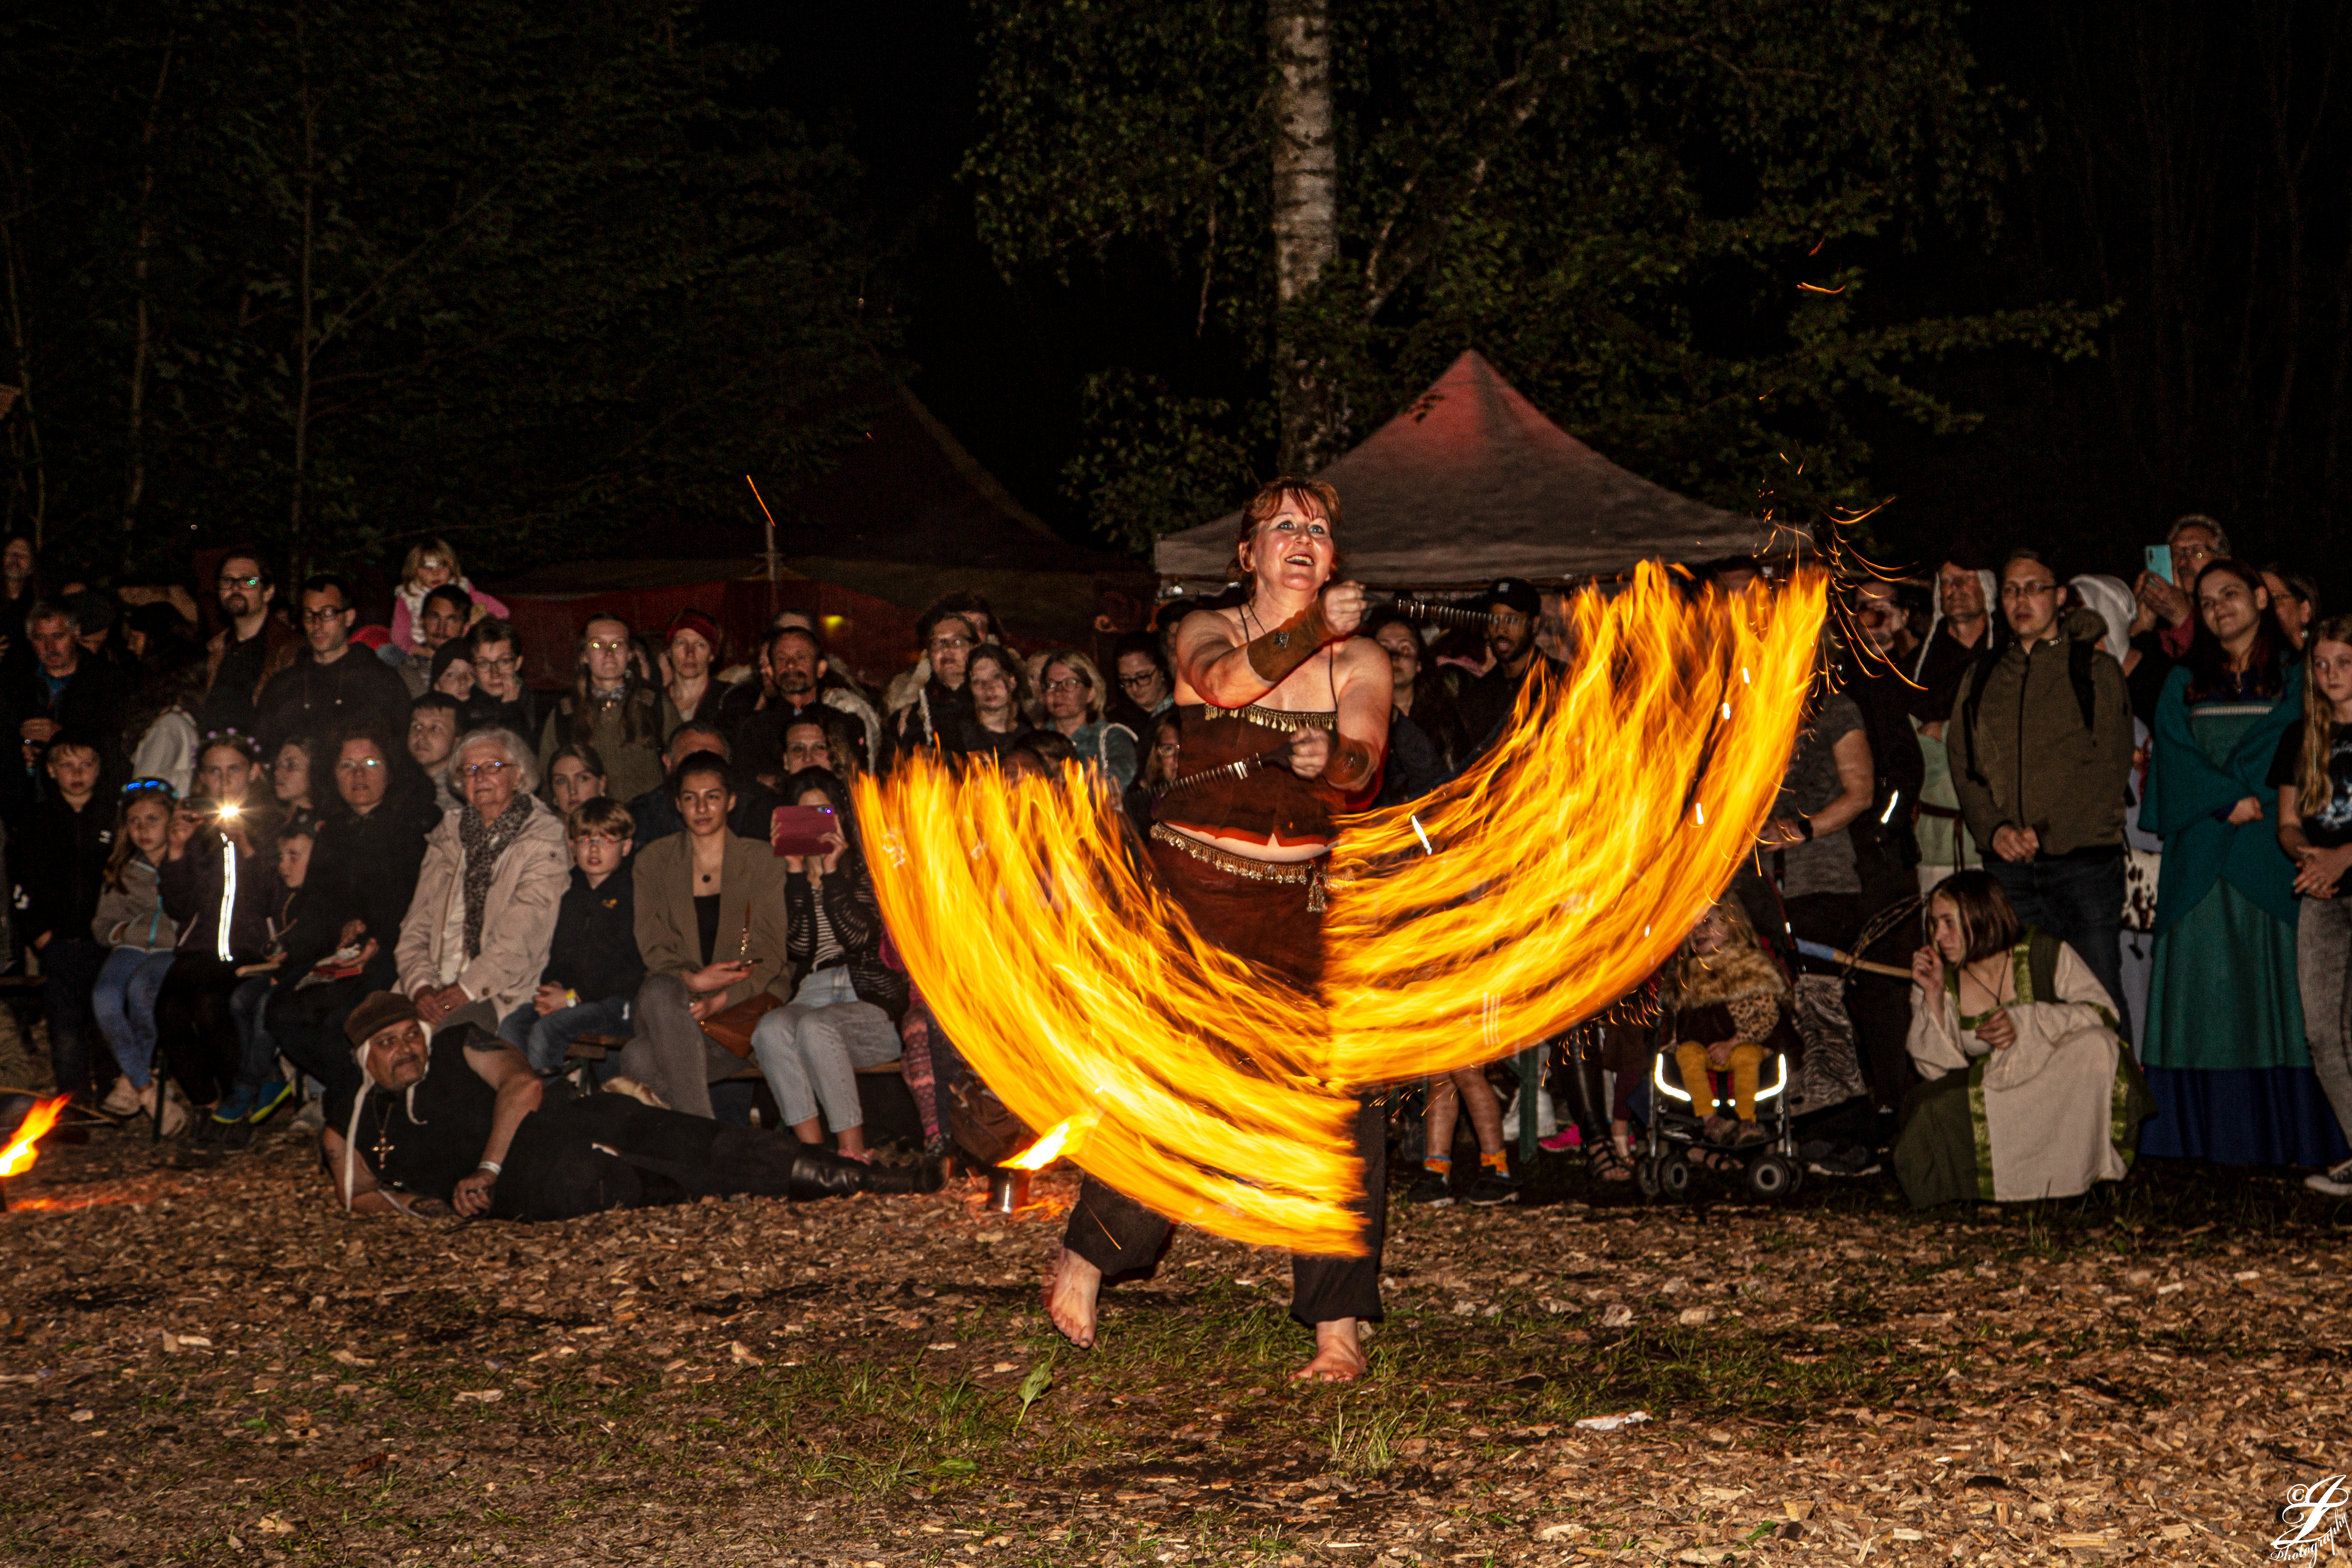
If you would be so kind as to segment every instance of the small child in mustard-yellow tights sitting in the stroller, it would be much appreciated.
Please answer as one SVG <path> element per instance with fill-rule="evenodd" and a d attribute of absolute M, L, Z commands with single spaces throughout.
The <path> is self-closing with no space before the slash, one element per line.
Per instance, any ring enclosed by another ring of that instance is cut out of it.
<path fill-rule="evenodd" d="M 1691 926 L 1682 952 L 1665 966 L 1658 994 L 1658 1048 L 1675 1056 L 1691 1112 L 1717 1150 L 1764 1143 L 1757 1088 L 1776 1053 L 1795 1063 L 1802 1051 L 1788 976 L 1773 964 L 1738 898 L 1719 898 Z M 1729 1077 L 1731 1114 L 1722 1114 L 1715 1077 Z M 1736 1171 L 1738 1159 L 1700 1150 L 1708 1164 Z"/>

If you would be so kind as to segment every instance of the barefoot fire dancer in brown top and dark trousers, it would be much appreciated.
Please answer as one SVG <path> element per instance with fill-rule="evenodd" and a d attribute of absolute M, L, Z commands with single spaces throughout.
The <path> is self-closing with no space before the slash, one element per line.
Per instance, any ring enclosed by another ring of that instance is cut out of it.
<path fill-rule="evenodd" d="M 1331 583 L 1338 494 L 1275 480 L 1242 510 L 1230 571 L 1249 585 L 1232 609 L 1192 614 L 1176 632 L 1183 766 L 1157 804 L 1150 856 L 1192 926 L 1270 978 L 1312 997 L 1322 983 L 1324 870 L 1331 813 L 1381 783 L 1390 668 L 1355 637 L 1364 588 Z M 1202 769 L 1225 769 L 1214 780 Z M 1291 1258 L 1291 1316 L 1315 1331 L 1296 1378 L 1364 1373 L 1357 1321 L 1381 1316 L 1388 1145 L 1381 1107 L 1355 1119 L 1364 1194 L 1359 1258 Z M 1047 1312 L 1073 1345 L 1094 1345 L 1103 1276 L 1145 1276 L 1171 1222 L 1089 1178 L 1063 1237 Z"/>

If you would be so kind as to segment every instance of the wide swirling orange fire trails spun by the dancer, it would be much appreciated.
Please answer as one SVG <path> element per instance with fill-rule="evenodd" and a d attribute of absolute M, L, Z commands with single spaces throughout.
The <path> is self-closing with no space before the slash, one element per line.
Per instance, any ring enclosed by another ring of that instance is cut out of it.
<path fill-rule="evenodd" d="M 1446 788 L 1343 823 L 1322 999 L 1204 943 L 1080 769 L 861 778 L 882 912 L 1016 1117 L 1094 1117 L 1065 1138 L 1084 1171 L 1237 1241 L 1362 1251 L 1352 1091 L 1557 1034 L 1672 952 L 1780 788 L 1825 604 L 1818 571 L 1691 604 L 1642 567 L 1578 595 L 1557 693 L 1531 684 Z"/>

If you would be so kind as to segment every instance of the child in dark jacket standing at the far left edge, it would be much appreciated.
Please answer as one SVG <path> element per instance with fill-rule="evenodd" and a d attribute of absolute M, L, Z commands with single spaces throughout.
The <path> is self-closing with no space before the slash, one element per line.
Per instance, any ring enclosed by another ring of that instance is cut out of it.
<path fill-rule="evenodd" d="M 35 632 L 40 625 L 35 618 Z M 80 733 L 66 731 L 45 745 L 40 766 L 49 788 L 9 844 L 16 936 L 40 954 L 56 1091 L 89 1095 L 101 1074 L 113 1077 L 92 1060 L 89 990 L 106 964 L 92 922 L 115 846 L 115 813 L 99 802 L 99 748 Z"/>

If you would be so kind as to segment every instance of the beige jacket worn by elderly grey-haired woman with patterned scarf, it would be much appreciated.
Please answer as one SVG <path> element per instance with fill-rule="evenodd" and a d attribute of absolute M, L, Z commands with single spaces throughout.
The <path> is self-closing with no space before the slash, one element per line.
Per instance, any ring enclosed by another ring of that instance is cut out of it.
<path fill-rule="evenodd" d="M 452 806 L 426 837 L 426 863 L 416 872 L 416 896 L 400 922 L 393 961 L 405 994 L 456 980 L 470 999 L 489 997 L 506 1018 L 532 999 L 548 966 L 555 912 L 572 886 L 572 846 L 555 811 L 532 799 L 532 818 L 489 879 L 482 952 L 466 961 L 466 849 L 456 837 L 456 813 L 468 809 Z"/>

